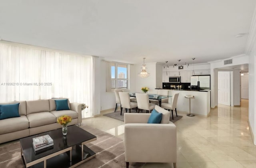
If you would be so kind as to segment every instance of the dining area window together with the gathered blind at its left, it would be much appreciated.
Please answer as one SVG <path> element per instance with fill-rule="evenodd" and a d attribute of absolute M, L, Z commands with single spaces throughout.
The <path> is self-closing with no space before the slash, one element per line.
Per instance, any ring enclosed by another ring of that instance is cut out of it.
<path fill-rule="evenodd" d="M 127 89 L 128 88 L 128 65 L 123 63 L 107 62 L 107 83 L 106 91 L 111 89 Z M 110 70 L 110 73 L 108 71 Z M 108 75 L 109 74 L 109 75 Z M 111 81 L 109 79 L 111 78 Z M 108 86 L 111 86 L 111 88 Z"/>

